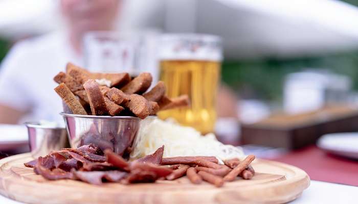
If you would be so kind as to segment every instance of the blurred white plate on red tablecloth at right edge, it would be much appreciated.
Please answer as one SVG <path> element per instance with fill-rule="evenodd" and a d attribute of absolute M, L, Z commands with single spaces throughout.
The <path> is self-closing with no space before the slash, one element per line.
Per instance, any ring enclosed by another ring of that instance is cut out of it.
<path fill-rule="evenodd" d="M 323 135 L 317 145 L 332 154 L 358 159 L 358 133 Z"/>

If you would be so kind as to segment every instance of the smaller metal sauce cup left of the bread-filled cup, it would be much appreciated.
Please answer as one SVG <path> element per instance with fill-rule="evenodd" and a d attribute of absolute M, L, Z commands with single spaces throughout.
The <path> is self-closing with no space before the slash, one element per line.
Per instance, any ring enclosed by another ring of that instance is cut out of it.
<path fill-rule="evenodd" d="M 31 156 L 48 155 L 52 150 L 69 147 L 69 141 L 64 127 L 41 125 L 38 122 L 25 123 L 28 129 Z"/>

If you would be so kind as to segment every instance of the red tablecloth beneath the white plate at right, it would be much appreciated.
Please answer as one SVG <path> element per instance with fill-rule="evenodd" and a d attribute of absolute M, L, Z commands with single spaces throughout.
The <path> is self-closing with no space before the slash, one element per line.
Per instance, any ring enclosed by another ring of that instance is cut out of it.
<path fill-rule="evenodd" d="M 275 161 L 305 170 L 311 180 L 358 186 L 358 161 L 326 154 L 317 146 L 290 152 Z"/>

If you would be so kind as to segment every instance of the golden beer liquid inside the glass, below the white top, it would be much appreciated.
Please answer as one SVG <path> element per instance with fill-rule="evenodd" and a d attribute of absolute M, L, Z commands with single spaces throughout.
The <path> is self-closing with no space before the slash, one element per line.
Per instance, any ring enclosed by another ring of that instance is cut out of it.
<path fill-rule="evenodd" d="M 167 87 L 167 95 L 188 94 L 191 106 L 158 115 L 162 119 L 174 118 L 202 133 L 213 132 L 216 121 L 216 92 L 220 79 L 220 62 L 207 60 L 162 60 L 160 80 Z"/>

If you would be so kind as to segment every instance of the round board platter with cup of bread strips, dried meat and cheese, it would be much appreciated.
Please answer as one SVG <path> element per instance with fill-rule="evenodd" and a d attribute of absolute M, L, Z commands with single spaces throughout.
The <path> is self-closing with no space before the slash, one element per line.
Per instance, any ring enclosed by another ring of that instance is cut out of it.
<path fill-rule="evenodd" d="M 71 148 L 0 160 L 0 193 L 27 203 L 285 203 L 309 186 L 301 169 L 245 156 L 215 135 L 155 117 L 189 106 L 150 73 L 58 73 Z"/>

